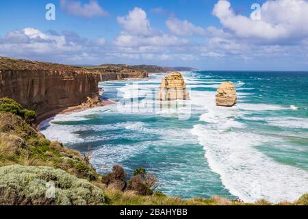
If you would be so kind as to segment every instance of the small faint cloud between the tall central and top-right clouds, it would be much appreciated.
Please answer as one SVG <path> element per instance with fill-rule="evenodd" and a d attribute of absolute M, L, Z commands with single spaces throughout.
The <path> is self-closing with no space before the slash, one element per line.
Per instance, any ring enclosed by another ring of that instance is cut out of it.
<path fill-rule="evenodd" d="M 189 21 L 181 21 L 175 17 L 169 18 L 166 25 L 172 34 L 178 36 L 192 36 L 194 34 L 204 36 L 206 34 L 202 27 L 197 27 Z"/>

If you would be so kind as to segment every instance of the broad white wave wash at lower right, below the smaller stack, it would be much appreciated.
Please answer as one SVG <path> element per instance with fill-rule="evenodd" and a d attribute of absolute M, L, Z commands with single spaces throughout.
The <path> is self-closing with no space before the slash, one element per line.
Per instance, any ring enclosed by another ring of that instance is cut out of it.
<path fill-rule="evenodd" d="M 210 168 L 243 201 L 295 201 L 308 192 L 307 171 L 278 164 L 254 148 L 263 136 L 207 125 L 195 125 L 192 134 L 204 146 Z"/>

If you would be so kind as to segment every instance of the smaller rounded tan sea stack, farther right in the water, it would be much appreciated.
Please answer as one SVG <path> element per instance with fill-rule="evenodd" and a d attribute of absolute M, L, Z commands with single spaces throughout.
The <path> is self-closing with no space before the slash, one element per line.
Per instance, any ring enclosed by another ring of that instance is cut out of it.
<path fill-rule="evenodd" d="M 224 82 L 220 84 L 216 94 L 216 105 L 232 107 L 235 105 L 237 100 L 236 89 L 232 82 Z"/>

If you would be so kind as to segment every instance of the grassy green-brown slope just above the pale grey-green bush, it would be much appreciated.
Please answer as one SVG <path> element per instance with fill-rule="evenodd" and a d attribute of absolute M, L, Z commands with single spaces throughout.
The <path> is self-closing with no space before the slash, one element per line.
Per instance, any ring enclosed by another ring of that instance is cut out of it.
<path fill-rule="evenodd" d="M 0 166 L 11 164 L 51 166 L 91 181 L 99 177 L 79 152 L 47 140 L 14 114 L 0 113 Z"/>

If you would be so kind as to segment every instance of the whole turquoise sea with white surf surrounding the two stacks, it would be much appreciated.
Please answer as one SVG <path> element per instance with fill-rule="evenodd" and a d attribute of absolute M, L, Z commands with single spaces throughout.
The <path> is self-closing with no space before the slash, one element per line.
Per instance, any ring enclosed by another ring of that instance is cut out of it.
<path fill-rule="evenodd" d="M 185 72 L 191 100 L 171 105 L 155 101 L 163 76 L 101 83 L 116 105 L 55 116 L 42 133 L 90 149 L 101 173 L 144 167 L 172 196 L 293 201 L 308 192 L 308 73 Z M 222 81 L 235 84 L 235 107 L 216 107 Z"/>

